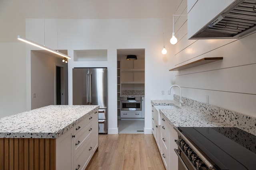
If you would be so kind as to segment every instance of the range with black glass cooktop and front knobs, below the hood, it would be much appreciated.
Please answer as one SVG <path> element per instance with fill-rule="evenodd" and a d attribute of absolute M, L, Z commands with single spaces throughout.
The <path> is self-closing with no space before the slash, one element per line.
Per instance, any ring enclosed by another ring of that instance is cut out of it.
<path fill-rule="evenodd" d="M 178 127 L 179 170 L 255 170 L 256 136 L 236 127 Z"/>

